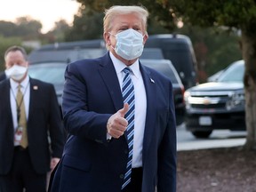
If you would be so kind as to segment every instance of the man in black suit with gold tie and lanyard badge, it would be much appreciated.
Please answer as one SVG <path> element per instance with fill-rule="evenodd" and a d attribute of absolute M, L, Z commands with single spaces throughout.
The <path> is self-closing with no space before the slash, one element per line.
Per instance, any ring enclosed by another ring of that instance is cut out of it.
<path fill-rule="evenodd" d="M 22 47 L 8 48 L 4 61 L 0 191 L 45 192 L 46 174 L 59 162 L 65 141 L 57 96 L 52 84 L 28 76 L 28 56 Z"/>

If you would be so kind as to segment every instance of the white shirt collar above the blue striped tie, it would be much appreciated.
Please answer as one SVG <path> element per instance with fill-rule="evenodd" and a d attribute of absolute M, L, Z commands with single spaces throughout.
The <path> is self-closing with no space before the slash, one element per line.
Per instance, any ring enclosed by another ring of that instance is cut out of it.
<path fill-rule="evenodd" d="M 122 73 L 124 68 L 127 68 L 127 66 L 122 62 L 121 60 L 116 59 L 116 57 L 113 55 L 112 52 L 109 52 L 110 58 L 114 64 L 114 67 L 116 68 L 116 73 Z M 139 78 L 140 76 L 140 65 L 139 60 L 136 60 L 129 68 L 132 70 L 132 74 Z"/>

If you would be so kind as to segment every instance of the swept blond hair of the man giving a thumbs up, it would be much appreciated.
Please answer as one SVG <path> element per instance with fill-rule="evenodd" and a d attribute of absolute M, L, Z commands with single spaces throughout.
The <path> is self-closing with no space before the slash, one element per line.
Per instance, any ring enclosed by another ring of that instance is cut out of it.
<path fill-rule="evenodd" d="M 139 14 L 141 16 L 141 19 L 143 21 L 144 29 L 147 28 L 147 20 L 148 20 L 148 10 L 145 7 L 142 6 L 121 6 L 121 5 L 115 5 L 110 7 L 108 10 L 105 11 L 105 17 L 103 19 L 103 27 L 104 32 L 108 32 L 110 28 L 112 28 L 111 24 L 112 21 L 118 16 L 122 14 L 130 14 L 135 13 Z"/>

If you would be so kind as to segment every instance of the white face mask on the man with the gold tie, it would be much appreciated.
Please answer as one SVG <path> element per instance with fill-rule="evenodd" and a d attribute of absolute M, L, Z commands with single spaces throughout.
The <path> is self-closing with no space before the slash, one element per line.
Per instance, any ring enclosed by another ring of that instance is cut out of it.
<path fill-rule="evenodd" d="M 15 81 L 20 81 L 20 79 L 22 79 L 25 76 L 27 71 L 27 67 L 13 65 L 12 68 L 5 69 L 5 75 L 12 78 Z"/>

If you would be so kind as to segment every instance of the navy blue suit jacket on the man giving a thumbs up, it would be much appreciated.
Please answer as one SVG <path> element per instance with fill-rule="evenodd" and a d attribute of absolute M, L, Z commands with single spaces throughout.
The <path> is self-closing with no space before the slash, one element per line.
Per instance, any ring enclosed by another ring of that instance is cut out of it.
<path fill-rule="evenodd" d="M 176 190 L 176 127 L 172 83 L 140 65 L 147 93 L 142 191 Z M 68 65 L 63 115 L 69 136 L 52 182 L 52 192 L 121 191 L 127 163 L 125 136 L 107 140 L 108 118 L 123 108 L 123 97 L 109 53 Z"/>

